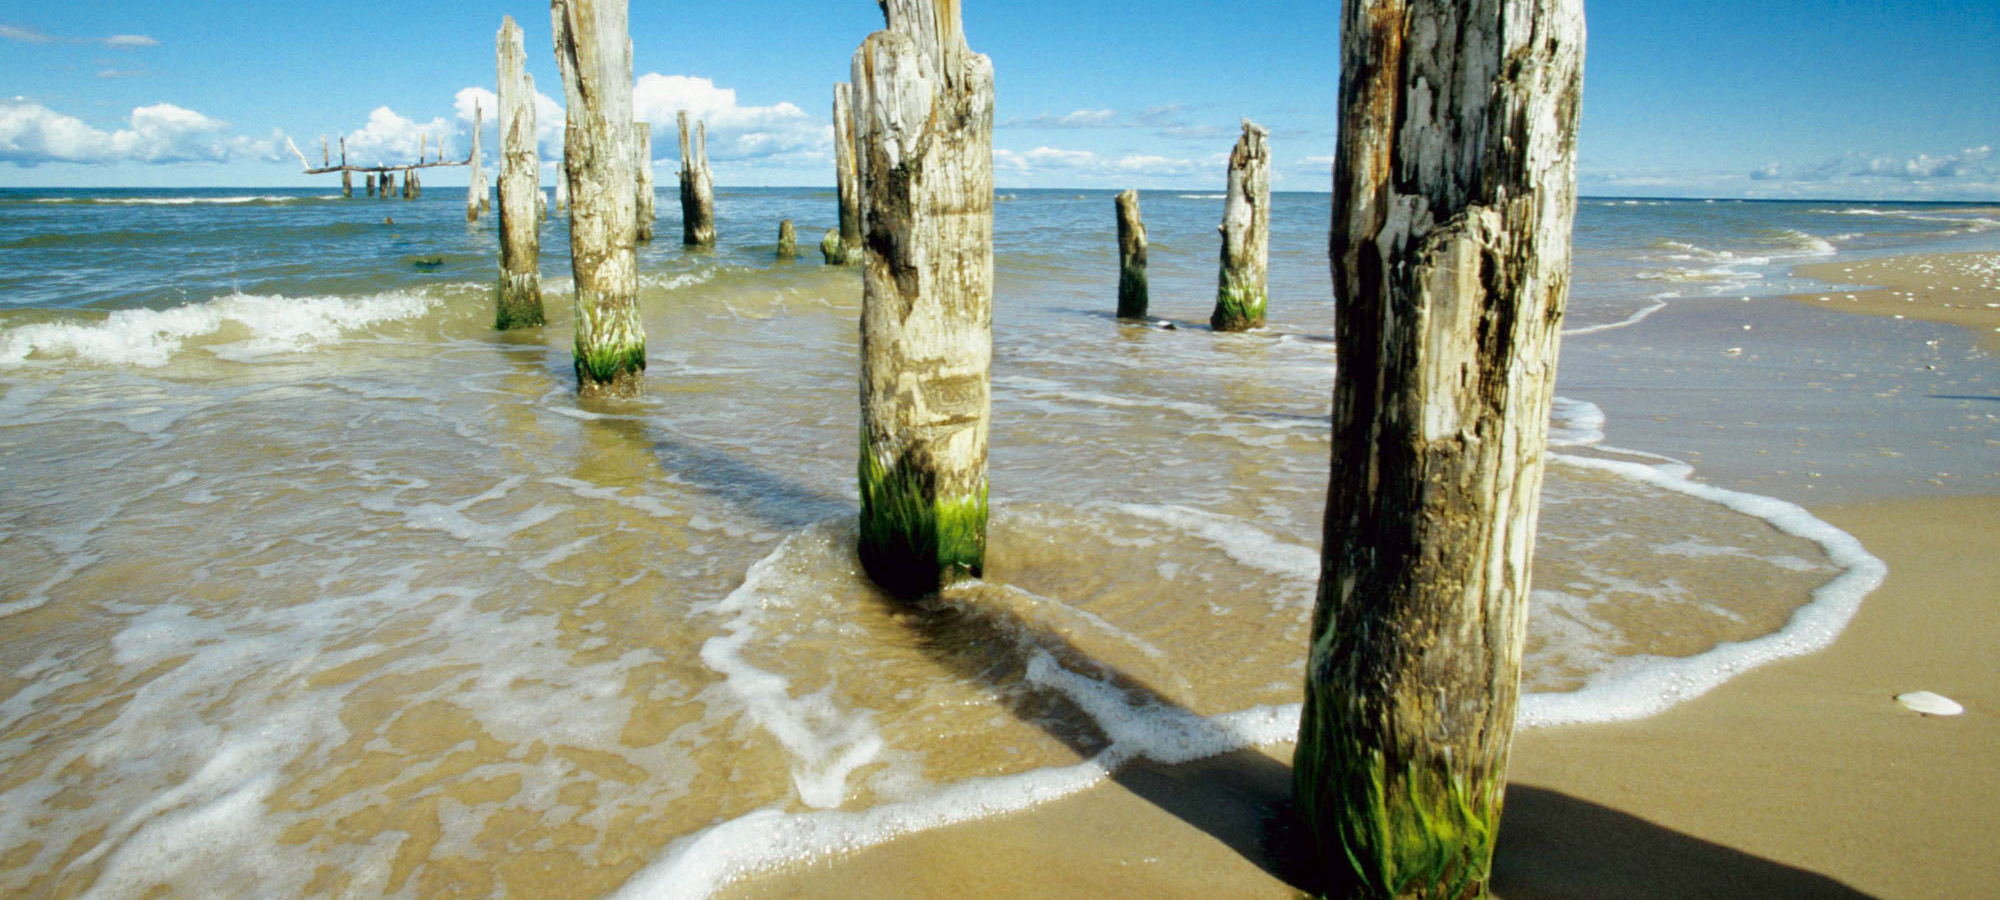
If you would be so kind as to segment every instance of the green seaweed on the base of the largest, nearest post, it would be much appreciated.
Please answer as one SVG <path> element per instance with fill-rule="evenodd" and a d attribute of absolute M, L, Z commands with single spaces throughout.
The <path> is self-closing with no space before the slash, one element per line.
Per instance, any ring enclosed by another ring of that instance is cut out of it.
<path fill-rule="evenodd" d="M 1328 734 L 1312 712 L 1292 772 L 1326 878 L 1322 896 L 1486 896 L 1500 826 L 1494 776 L 1418 760 L 1392 766 L 1380 748 L 1362 746 L 1352 734 Z"/>

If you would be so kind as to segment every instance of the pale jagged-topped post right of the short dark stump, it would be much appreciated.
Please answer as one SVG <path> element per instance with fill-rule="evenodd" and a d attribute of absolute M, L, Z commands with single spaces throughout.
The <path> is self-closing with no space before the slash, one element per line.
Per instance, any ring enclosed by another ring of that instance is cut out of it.
<path fill-rule="evenodd" d="M 1390 0 L 1394 2 L 1394 0 Z M 1222 270 L 1216 312 L 1208 326 L 1246 332 L 1264 326 L 1264 268 L 1270 260 L 1270 132 L 1244 120 L 1230 152 L 1228 194 L 1222 202 Z"/>

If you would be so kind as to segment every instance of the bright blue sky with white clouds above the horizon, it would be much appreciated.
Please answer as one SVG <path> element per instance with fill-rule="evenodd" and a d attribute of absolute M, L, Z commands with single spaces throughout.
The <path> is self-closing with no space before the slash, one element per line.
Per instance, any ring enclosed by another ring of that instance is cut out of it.
<path fill-rule="evenodd" d="M 336 12 L 338 10 L 338 12 Z M 1326 190 L 1338 4 L 966 2 L 994 60 L 1002 188 L 1220 188 L 1238 120 L 1272 128 L 1278 190 Z M 366 8 L 214 0 L 0 10 L 0 186 L 312 186 L 318 156 L 464 154 L 492 110 L 494 32 L 528 32 L 560 98 L 544 4 Z M 2000 2 L 1586 4 L 1580 182 L 1600 196 L 2000 200 Z M 718 184 L 830 184 L 832 84 L 872 0 L 640 2 L 636 104 L 672 176 L 672 110 L 710 120 Z M 560 150 L 544 104 L 544 154 Z M 488 124 L 488 148 L 492 126 Z M 490 152 L 490 150 L 488 150 Z M 432 184 L 464 184 L 462 170 Z"/>

